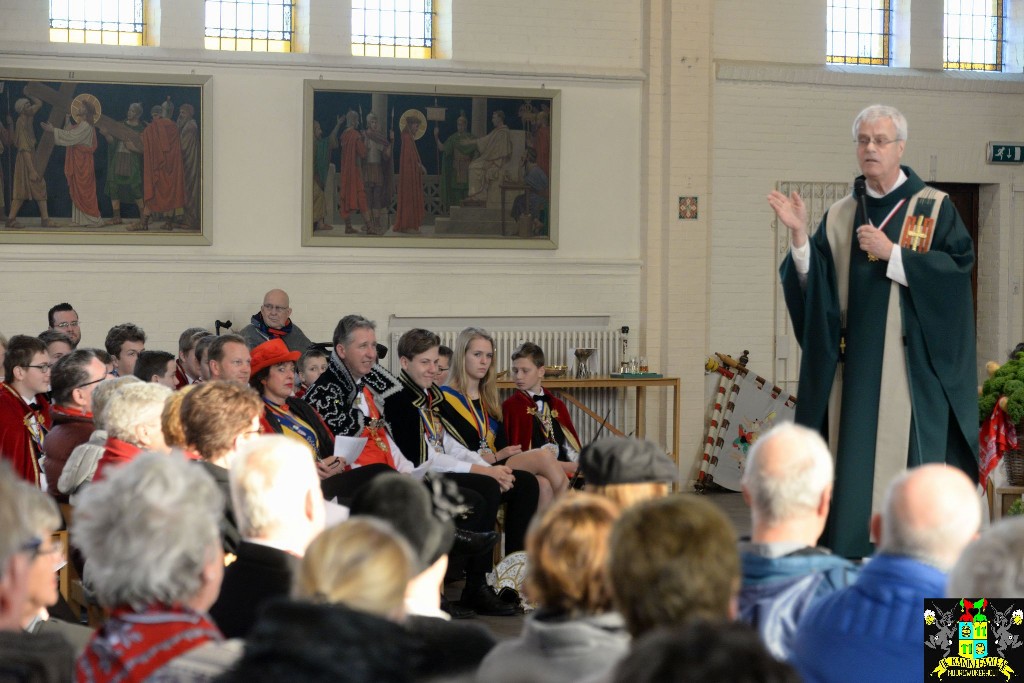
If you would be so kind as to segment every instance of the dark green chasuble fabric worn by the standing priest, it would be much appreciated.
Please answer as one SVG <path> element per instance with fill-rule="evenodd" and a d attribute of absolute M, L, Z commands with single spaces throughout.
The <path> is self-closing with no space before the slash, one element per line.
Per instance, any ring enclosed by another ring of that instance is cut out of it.
<path fill-rule="evenodd" d="M 882 225 L 894 207 L 906 200 L 884 228 L 893 244 L 899 244 L 913 196 L 926 187 L 908 167 L 904 166 L 903 172 L 907 181 L 902 185 L 881 199 L 866 198 L 873 225 Z M 841 206 L 851 211 L 852 207 L 844 203 L 852 201 L 849 197 L 841 200 L 829 212 Z M 922 213 L 919 205 L 915 214 Z M 859 211 L 856 214 L 859 216 Z M 856 229 L 854 222 L 839 229 L 852 233 Z M 893 281 L 886 276 L 888 262 L 869 261 L 852 236 L 847 240 L 847 308 L 841 311 L 841 288 L 827 224 L 826 215 L 810 239 L 810 270 L 803 286 L 792 255 L 779 268 L 786 306 L 803 351 L 796 421 L 820 431 L 836 457 L 831 511 L 822 545 L 845 557 L 866 557 L 872 551 L 868 521 L 891 291 L 899 294 L 895 324 L 902 318 L 902 330 L 895 339 L 905 351 L 903 371 L 908 396 L 902 400 L 910 402 L 910 420 L 908 438 L 902 437 L 908 444 L 907 452 L 880 452 L 880 462 L 897 461 L 898 467 L 945 462 L 977 480 L 978 389 L 971 294 L 974 248 L 955 208 L 948 198 L 943 198 L 929 250 L 919 253 L 902 248 L 908 287 L 897 285 L 894 290 Z M 846 343 L 841 352 L 843 337 Z M 837 376 L 842 378 L 838 421 L 836 416 L 831 416 L 833 420 L 828 416 L 829 393 Z M 829 435 L 829 423 L 838 424 L 838 434 Z"/>

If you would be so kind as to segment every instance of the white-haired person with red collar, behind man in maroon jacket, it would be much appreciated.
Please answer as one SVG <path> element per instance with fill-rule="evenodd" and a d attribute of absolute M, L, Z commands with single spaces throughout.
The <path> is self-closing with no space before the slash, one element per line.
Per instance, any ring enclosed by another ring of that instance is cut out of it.
<path fill-rule="evenodd" d="M 161 417 L 173 392 L 163 384 L 140 382 L 122 387 L 106 403 L 106 443 L 93 481 L 105 470 L 133 460 L 143 451 L 167 451 Z"/>

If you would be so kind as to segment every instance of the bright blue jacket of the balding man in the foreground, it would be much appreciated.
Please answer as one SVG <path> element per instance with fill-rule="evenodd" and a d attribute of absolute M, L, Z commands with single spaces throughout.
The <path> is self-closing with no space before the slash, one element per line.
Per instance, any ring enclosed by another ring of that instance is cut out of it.
<path fill-rule="evenodd" d="M 810 608 L 791 664 L 808 683 L 922 680 L 924 601 L 942 597 L 945 584 L 945 572 L 924 562 L 876 555 L 853 586 Z"/>

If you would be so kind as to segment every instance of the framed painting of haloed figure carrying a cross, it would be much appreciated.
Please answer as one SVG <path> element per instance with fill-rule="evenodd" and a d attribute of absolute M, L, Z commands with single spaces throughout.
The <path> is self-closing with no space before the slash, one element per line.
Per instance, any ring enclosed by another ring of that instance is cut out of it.
<path fill-rule="evenodd" d="M 0 70 L 0 243 L 209 245 L 209 79 Z"/>

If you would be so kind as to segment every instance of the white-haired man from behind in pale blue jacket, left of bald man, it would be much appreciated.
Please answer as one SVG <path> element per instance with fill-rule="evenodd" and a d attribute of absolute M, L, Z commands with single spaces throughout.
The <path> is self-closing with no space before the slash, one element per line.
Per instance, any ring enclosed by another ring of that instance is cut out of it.
<path fill-rule="evenodd" d="M 828 446 L 792 422 L 762 434 L 746 457 L 742 488 L 753 533 L 739 545 L 739 618 L 758 629 L 778 659 L 790 657 L 807 608 L 856 578 L 856 565 L 817 547 L 831 484 Z"/>

